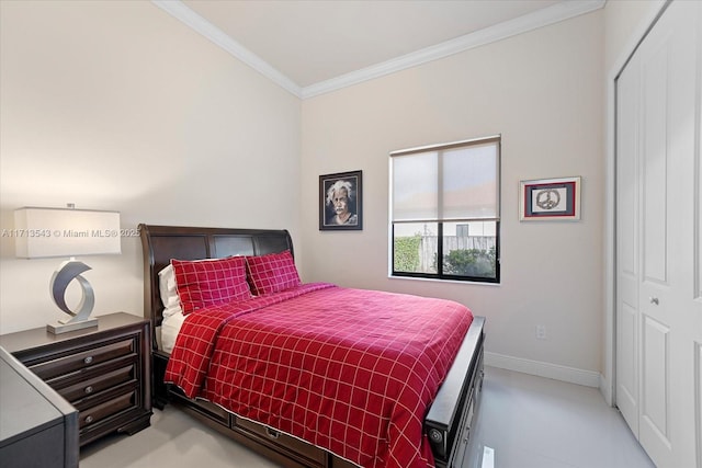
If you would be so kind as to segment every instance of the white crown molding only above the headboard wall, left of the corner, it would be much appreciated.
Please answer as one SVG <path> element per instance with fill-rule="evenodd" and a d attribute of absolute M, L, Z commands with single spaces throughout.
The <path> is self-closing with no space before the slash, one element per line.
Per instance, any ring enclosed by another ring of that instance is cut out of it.
<path fill-rule="evenodd" d="M 230 36 L 188 8 L 180 0 L 151 0 L 151 3 L 182 21 L 184 24 L 192 27 L 197 33 L 231 54 L 234 57 L 244 61 L 259 73 L 273 81 L 275 84 L 297 98 L 302 98 L 303 90 L 293 80 L 281 73 L 276 68 L 272 67 L 258 55 L 234 41 Z"/>

